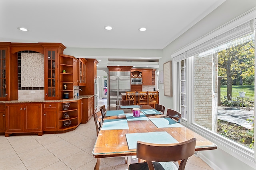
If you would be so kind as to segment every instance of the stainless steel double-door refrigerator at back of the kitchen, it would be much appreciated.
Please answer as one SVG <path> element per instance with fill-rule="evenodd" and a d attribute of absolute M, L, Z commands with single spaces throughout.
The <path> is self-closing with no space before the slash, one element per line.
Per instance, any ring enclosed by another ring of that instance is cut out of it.
<path fill-rule="evenodd" d="M 108 77 L 108 105 L 116 105 L 116 100 L 122 100 L 121 93 L 131 90 L 130 71 L 110 71 Z"/>

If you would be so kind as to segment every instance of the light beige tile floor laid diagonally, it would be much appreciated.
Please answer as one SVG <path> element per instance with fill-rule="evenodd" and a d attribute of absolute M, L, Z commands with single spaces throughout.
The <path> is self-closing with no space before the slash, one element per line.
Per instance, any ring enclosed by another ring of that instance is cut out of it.
<path fill-rule="evenodd" d="M 102 104 L 103 105 L 103 104 Z M 99 106 L 102 106 L 99 101 Z M 96 159 L 92 149 L 96 141 L 94 120 L 62 134 L 0 136 L 0 170 L 93 170 Z M 132 158 L 132 163 L 136 162 Z M 102 158 L 101 170 L 127 170 L 124 157 Z M 185 169 L 212 170 L 195 156 Z"/>

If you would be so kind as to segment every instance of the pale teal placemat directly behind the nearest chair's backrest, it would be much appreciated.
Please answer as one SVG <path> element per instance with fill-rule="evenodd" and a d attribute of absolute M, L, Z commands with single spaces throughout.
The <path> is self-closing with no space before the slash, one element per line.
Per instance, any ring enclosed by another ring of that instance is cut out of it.
<path fill-rule="evenodd" d="M 178 143 L 178 141 L 167 132 L 126 133 L 125 136 L 129 149 L 136 149 L 137 141 L 155 144 Z"/>

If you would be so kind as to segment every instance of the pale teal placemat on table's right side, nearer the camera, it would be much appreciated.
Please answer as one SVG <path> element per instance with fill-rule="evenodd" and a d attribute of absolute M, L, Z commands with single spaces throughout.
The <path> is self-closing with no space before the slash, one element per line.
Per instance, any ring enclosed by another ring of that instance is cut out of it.
<path fill-rule="evenodd" d="M 164 127 L 183 127 L 180 123 L 172 120 L 170 117 L 161 117 L 161 118 L 150 118 L 150 120 L 158 128 Z"/>

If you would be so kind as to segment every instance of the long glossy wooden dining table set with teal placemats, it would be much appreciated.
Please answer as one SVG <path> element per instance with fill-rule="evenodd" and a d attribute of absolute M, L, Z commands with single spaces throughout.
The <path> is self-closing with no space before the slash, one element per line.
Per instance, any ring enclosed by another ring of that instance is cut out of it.
<path fill-rule="evenodd" d="M 132 113 L 132 106 L 129 106 L 129 107 L 131 108 L 122 108 L 122 106 L 108 106 L 106 109 L 106 115 L 104 117 L 104 121 L 108 121 L 109 119 L 125 120 L 126 115 Z M 137 107 L 139 107 L 141 111 L 143 109 L 154 110 L 154 108 L 149 105 L 141 105 Z M 107 115 L 108 111 L 112 111 L 112 110 L 119 110 L 119 111 L 123 110 L 124 114 L 108 116 Z M 145 116 L 150 119 L 166 117 L 166 115 L 164 114 L 145 114 Z M 94 145 L 94 149 L 92 151 L 93 157 L 97 158 L 97 163 L 95 166 L 96 170 L 99 170 L 100 168 L 100 158 L 117 157 L 117 156 L 128 156 L 128 158 L 130 158 L 130 156 L 136 155 L 136 149 L 129 149 L 128 147 L 126 134 L 130 134 L 130 133 L 167 132 L 171 135 L 171 137 L 176 139 L 178 143 L 187 141 L 191 138 L 196 138 L 195 151 L 217 149 L 217 145 L 205 139 L 201 135 L 195 133 L 194 131 L 188 129 L 187 127 L 182 126 L 182 127 L 158 128 L 150 119 L 127 121 L 128 129 L 110 129 L 110 130 L 102 130 L 102 126 L 104 125 L 104 121 L 103 121 L 98 137 L 96 139 L 96 143 Z M 127 164 L 129 166 L 130 159 L 128 159 Z"/>

